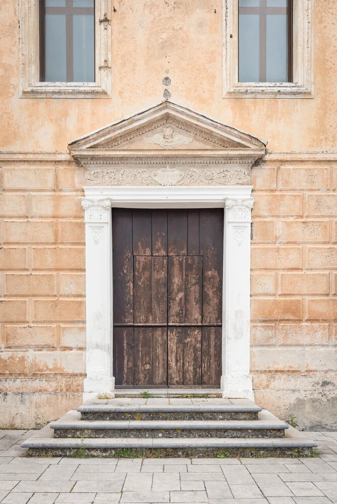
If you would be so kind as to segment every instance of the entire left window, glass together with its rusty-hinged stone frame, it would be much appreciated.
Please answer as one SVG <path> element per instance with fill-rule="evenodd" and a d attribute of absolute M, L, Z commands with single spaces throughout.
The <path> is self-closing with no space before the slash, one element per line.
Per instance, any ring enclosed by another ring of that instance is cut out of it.
<path fill-rule="evenodd" d="M 20 96 L 111 96 L 111 0 L 19 0 Z"/>

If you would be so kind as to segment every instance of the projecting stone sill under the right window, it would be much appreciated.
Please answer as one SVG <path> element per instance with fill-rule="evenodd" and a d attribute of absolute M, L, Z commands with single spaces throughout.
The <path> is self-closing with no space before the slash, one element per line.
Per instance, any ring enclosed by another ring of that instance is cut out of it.
<path fill-rule="evenodd" d="M 243 82 L 224 93 L 223 98 L 313 98 L 313 89 L 294 82 Z"/>

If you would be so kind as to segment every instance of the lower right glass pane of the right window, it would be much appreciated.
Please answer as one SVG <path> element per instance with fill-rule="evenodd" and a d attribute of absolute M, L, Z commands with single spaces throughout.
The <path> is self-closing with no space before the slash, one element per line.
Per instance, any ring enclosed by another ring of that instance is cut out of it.
<path fill-rule="evenodd" d="M 287 82 L 287 16 L 267 15 L 267 82 Z"/>

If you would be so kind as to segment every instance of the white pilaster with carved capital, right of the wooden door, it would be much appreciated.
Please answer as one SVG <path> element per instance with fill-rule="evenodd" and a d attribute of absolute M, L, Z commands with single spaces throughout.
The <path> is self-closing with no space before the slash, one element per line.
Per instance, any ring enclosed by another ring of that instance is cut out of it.
<path fill-rule="evenodd" d="M 254 400 L 250 370 L 250 226 L 254 199 L 226 199 L 222 397 Z"/>

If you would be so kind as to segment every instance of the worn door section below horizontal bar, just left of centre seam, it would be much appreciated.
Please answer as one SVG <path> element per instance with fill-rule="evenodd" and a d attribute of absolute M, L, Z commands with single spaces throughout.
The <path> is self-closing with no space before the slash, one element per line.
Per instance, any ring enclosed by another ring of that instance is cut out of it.
<path fill-rule="evenodd" d="M 135 386 L 167 386 L 167 328 L 135 327 Z"/>

